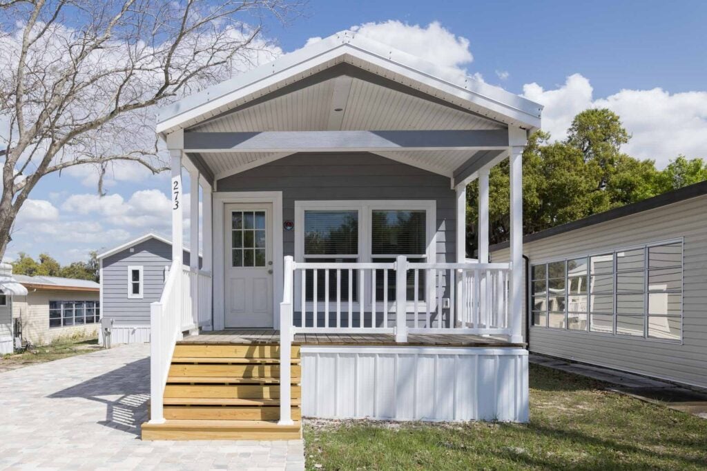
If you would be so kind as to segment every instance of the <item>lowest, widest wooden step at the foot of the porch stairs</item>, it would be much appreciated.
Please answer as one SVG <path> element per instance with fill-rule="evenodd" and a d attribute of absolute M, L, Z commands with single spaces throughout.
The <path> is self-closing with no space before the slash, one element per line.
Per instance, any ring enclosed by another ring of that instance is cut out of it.
<path fill-rule="evenodd" d="M 278 425 L 262 420 L 167 420 L 142 424 L 143 440 L 296 440 L 302 436 L 299 421 Z"/>

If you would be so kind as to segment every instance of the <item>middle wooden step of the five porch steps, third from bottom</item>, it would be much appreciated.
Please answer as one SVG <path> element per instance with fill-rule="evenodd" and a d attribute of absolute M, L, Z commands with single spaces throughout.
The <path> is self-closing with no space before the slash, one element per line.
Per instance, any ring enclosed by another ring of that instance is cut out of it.
<path fill-rule="evenodd" d="M 291 386 L 291 397 L 300 398 L 302 388 Z M 240 398 L 276 399 L 280 386 L 270 384 L 167 384 L 165 398 Z"/>

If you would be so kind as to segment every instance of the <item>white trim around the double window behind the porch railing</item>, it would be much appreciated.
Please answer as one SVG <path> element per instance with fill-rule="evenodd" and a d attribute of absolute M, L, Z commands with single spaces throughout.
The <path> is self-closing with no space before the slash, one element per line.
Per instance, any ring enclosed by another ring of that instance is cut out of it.
<path fill-rule="evenodd" d="M 304 222 L 305 210 L 330 210 L 330 211 L 358 211 L 358 262 L 369 263 L 374 261 L 371 257 L 373 246 L 373 233 L 371 232 L 371 219 L 375 210 L 423 210 L 426 212 L 426 251 L 424 257 L 430 263 L 437 261 L 437 202 L 435 200 L 343 200 L 343 201 L 295 201 L 295 261 L 302 262 L 305 257 Z M 341 254 L 346 255 L 346 254 Z M 401 254 L 404 255 L 404 254 Z M 316 256 L 313 258 L 317 258 Z M 322 257 L 325 258 L 325 257 Z M 436 295 L 433 277 L 426 277 L 425 292 L 426 298 L 431 299 L 430 311 L 436 309 Z M 364 291 L 366 306 L 370 306 L 372 301 L 370 277 L 367 277 Z M 361 288 L 359 287 L 359 290 Z M 300 306 L 300 281 L 295 280 L 294 294 L 295 306 Z M 324 302 L 317 303 L 317 311 L 324 309 Z M 360 310 L 359 302 L 352 303 L 354 311 Z M 313 309 L 312 302 L 305 304 L 305 309 Z M 376 311 L 383 309 L 383 302 L 376 301 Z M 412 312 L 414 302 L 408 300 L 407 310 Z M 426 310 L 426 302 L 419 302 L 418 309 L 422 312 Z M 395 302 L 388 302 L 387 310 L 395 312 Z"/>

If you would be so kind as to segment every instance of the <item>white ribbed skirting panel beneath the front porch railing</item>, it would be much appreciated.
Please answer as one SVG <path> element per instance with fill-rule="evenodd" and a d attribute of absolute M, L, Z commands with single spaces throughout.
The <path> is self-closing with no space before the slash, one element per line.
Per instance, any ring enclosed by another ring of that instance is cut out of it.
<path fill-rule="evenodd" d="M 305 346 L 300 356 L 305 417 L 528 420 L 522 348 Z"/>

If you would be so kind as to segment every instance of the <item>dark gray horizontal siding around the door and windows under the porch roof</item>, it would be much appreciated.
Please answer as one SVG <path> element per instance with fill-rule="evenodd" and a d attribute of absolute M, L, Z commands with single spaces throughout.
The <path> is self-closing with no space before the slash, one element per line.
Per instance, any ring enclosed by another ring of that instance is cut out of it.
<path fill-rule="evenodd" d="M 218 180 L 218 191 L 282 191 L 284 220 L 295 219 L 295 201 L 435 200 L 437 261 L 455 261 L 455 191 L 450 179 L 370 153 L 290 155 Z M 275 227 L 282 227 L 276 221 Z M 285 255 L 294 255 L 294 231 L 283 233 Z"/>

